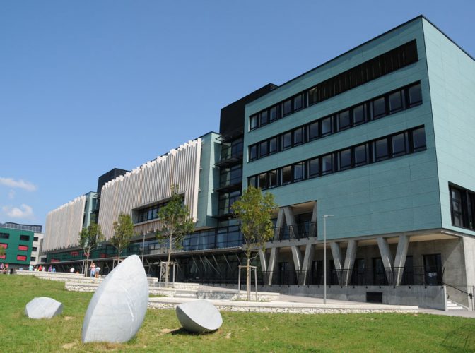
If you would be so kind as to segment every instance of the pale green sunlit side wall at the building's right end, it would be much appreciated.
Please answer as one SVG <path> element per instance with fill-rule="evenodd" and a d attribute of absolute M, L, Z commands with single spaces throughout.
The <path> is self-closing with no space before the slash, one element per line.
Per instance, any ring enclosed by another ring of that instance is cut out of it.
<path fill-rule="evenodd" d="M 442 226 L 452 226 L 449 182 L 475 191 L 475 61 L 423 20 L 440 183 Z"/>

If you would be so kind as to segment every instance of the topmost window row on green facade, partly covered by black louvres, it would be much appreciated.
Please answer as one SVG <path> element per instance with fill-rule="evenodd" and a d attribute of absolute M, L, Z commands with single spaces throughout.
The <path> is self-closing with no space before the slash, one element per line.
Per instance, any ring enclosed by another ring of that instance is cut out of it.
<path fill-rule="evenodd" d="M 412 40 L 250 116 L 249 128 L 254 130 L 265 126 L 416 61 L 418 61 L 416 40 Z"/>

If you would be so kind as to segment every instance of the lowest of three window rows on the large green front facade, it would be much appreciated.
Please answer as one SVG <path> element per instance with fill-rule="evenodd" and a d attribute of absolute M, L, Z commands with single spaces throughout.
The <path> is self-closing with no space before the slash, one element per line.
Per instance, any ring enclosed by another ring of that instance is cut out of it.
<path fill-rule="evenodd" d="M 286 167 L 253 175 L 248 178 L 248 183 L 260 189 L 271 189 L 425 149 L 426 133 L 424 127 L 419 126 L 320 155 L 310 160 L 303 160 Z"/>

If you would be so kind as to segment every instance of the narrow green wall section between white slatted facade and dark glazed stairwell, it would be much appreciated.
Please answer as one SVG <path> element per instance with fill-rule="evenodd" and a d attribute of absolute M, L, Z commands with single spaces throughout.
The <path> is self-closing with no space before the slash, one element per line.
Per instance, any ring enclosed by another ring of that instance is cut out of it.
<path fill-rule="evenodd" d="M 218 133 L 206 133 L 201 136 L 201 169 L 199 171 L 199 195 L 198 195 L 198 222 L 196 228 L 216 227 L 216 220 L 211 217 L 218 213 L 219 168 L 214 164 L 220 158 L 220 145 L 217 140 Z"/>

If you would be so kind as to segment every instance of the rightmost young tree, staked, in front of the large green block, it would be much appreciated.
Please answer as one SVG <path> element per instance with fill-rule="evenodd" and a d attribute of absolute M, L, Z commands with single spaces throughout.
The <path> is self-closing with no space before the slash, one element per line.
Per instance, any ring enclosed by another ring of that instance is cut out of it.
<path fill-rule="evenodd" d="M 241 221 L 241 232 L 246 244 L 247 300 L 251 299 L 251 255 L 256 250 L 264 250 L 266 241 L 274 237 L 274 225 L 271 220 L 271 215 L 272 210 L 276 207 L 274 195 L 271 193 L 262 194 L 261 189 L 256 189 L 252 186 L 250 186 L 232 206 L 235 217 Z M 259 253 L 257 253 L 257 255 L 259 255 Z"/>

